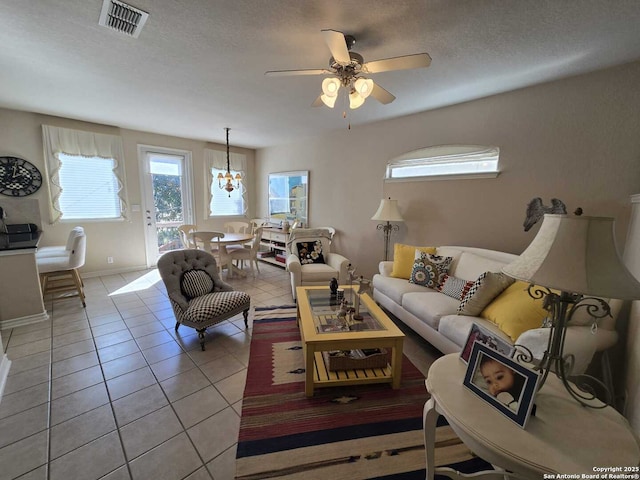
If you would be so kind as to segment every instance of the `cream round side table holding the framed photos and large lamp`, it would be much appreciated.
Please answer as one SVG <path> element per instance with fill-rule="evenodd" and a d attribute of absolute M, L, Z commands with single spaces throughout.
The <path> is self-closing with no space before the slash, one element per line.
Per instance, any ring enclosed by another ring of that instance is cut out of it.
<path fill-rule="evenodd" d="M 424 407 L 427 480 L 433 480 L 436 470 L 459 476 L 434 467 L 439 414 L 473 452 L 514 476 L 539 480 L 545 473 L 594 475 L 604 467 L 630 467 L 626 473 L 639 473 L 633 469 L 640 462 L 638 442 L 626 419 L 612 407 L 581 406 L 550 374 L 534 399 L 535 416 L 522 429 L 463 386 L 466 369 L 457 354 L 439 358 L 429 369 L 426 386 L 431 398 Z"/>

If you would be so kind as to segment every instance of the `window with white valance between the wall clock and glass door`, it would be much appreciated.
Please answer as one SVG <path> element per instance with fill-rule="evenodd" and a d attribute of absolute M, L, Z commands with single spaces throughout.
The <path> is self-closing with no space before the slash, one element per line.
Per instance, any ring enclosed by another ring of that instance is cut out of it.
<path fill-rule="evenodd" d="M 127 218 L 122 139 L 42 126 L 51 223 Z"/>

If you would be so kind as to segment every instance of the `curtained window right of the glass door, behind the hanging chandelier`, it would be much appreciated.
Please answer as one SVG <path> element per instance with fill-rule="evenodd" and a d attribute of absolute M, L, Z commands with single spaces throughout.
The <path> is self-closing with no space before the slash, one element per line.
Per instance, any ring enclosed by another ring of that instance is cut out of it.
<path fill-rule="evenodd" d="M 229 154 L 232 173 L 240 173 L 242 181 L 240 188 L 229 193 L 218 186 L 218 173 L 227 173 L 227 158 L 225 152 L 205 149 L 205 165 L 207 166 L 207 183 L 209 190 L 209 216 L 231 217 L 243 216 L 247 212 L 247 190 L 245 188 L 246 156 L 238 153 Z M 235 186 L 235 181 L 234 181 Z"/>

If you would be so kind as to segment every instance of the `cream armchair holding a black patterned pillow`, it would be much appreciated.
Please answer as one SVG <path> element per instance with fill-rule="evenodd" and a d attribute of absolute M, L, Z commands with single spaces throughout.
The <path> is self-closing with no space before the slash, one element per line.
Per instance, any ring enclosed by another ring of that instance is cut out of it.
<path fill-rule="evenodd" d="M 349 260 L 331 251 L 331 232 L 326 228 L 296 228 L 287 242 L 287 271 L 291 274 L 291 294 L 296 300 L 296 287 L 326 285 L 331 278 L 340 284 L 349 281 Z"/>

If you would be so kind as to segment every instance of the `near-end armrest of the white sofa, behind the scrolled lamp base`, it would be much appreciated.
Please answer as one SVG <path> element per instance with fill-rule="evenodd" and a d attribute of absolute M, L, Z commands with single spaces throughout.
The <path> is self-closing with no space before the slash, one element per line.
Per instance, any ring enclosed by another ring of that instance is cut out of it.
<path fill-rule="evenodd" d="M 550 328 L 534 328 L 523 332 L 516 340 L 517 345 L 523 345 L 531 350 L 534 358 L 542 359 L 549 342 Z M 591 327 L 570 326 L 565 332 L 564 355 L 574 356 L 572 375 L 584 373 L 591 363 L 598 345 L 598 334 L 593 333 Z"/>

